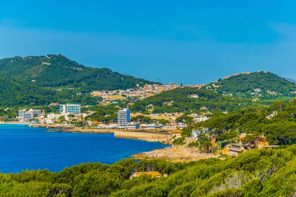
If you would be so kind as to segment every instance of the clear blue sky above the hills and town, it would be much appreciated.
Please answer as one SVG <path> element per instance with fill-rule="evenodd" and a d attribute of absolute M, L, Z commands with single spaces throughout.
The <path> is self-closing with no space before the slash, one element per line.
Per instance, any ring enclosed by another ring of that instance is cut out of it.
<path fill-rule="evenodd" d="M 151 81 L 296 79 L 293 0 L 0 0 L 0 59 L 63 54 Z"/>

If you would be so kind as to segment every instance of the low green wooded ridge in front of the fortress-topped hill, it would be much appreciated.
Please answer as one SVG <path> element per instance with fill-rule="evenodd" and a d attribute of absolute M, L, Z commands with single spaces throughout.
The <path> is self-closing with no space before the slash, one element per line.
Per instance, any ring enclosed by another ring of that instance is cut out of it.
<path fill-rule="evenodd" d="M 199 98 L 190 98 L 189 95 L 193 94 L 198 95 Z M 170 101 L 173 101 L 171 105 L 165 103 Z M 198 88 L 184 87 L 166 91 L 144 100 L 137 100 L 134 105 L 131 106 L 131 110 L 144 112 L 150 109 L 148 105 L 152 104 L 153 113 L 199 112 L 200 108 L 203 106 L 206 106 L 211 112 L 233 111 L 250 106 L 269 105 L 272 102 L 271 100 L 254 102 L 251 99 L 224 96 L 213 90 L 199 90 Z"/>

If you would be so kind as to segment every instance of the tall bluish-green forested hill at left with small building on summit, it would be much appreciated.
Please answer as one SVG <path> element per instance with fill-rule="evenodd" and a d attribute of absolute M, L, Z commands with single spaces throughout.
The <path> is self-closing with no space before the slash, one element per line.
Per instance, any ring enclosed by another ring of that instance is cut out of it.
<path fill-rule="evenodd" d="M 2 75 L 38 87 L 79 88 L 80 91 L 118 90 L 154 82 L 80 65 L 63 55 L 14 57 L 0 60 Z"/>

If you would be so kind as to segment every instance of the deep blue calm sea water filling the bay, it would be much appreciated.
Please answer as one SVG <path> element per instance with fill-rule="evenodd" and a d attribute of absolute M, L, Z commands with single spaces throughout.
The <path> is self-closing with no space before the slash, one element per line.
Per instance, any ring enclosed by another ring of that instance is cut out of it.
<path fill-rule="evenodd" d="M 0 125 L 0 171 L 61 171 L 80 163 L 112 164 L 129 155 L 163 148 L 158 142 L 114 138 L 114 134 L 46 132 L 27 125 Z"/>

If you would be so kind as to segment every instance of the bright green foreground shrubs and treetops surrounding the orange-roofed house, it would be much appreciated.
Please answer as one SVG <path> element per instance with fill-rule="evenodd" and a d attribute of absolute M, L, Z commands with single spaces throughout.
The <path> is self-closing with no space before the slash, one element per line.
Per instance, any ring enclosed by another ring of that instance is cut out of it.
<path fill-rule="evenodd" d="M 136 170 L 149 169 L 168 176 L 130 179 Z M 292 197 L 295 172 L 296 145 L 292 145 L 184 164 L 126 159 L 111 165 L 79 164 L 61 172 L 0 173 L 0 193 L 7 197 Z"/>

